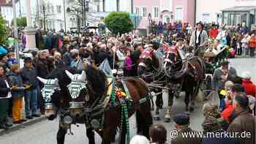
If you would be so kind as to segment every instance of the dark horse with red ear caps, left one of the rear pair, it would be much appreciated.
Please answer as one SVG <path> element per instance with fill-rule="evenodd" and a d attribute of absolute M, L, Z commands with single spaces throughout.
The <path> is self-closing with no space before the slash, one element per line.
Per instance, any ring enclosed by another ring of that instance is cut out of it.
<path fill-rule="evenodd" d="M 160 49 L 159 49 L 160 50 Z M 143 51 L 140 55 L 140 63 L 138 65 L 138 75 L 143 78 L 147 83 L 154 83 L 157 86 L 153 86 L 153 91 L 156 93 L 161 93 L 162 88 L 165 86 L 165 72 L 163 71 L 163 60 L 161 53 L 159 51 L 155 51 L 151 48 L 148 48 Z M 169 98 L 173 96 L 173 91 L 168 90 Z M 152 102 L 154 105 L 154 102 Z M 159 109 L 162 108 L 163 99 L 162 94 L 157 94 L 156 99 L 157 109 L 155 111 L 156 118 L 159 119 Z M 168 109 L 165 115 L 165 121 L 170 122 L 170 106 L 172 104 L 168 100 Z"/>

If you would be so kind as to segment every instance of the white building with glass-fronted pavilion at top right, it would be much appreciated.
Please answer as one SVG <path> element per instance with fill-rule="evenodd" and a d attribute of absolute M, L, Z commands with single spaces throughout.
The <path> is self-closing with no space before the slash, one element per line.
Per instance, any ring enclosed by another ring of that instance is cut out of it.
<path fill-rule="evenodd" d="M 233 24 L 242 23 L 244 21 L 243 15 L 239 14 L 248 7 L 246 6 L 255 6 L 256 7 L 256 0 L 197 0 L 196 1 L 196 21 L 203 21 L 206 23 L 216 22 L 216 23 L 227 23 L 227 19 L 232 21 Z M 239 9 L 230 9 L 232 7 L 240 7 Z M 244 10 L 242 8 L 244 7 Z M 227 17 L 222 18 L 222 10 L 233 10 L 229 11 L 230 15 L 227 14 Z M 237 13 L 238 12 L 238 13 Z M 231 13 L 236 13 L 236 15 L 232 15 Z M 255 23 L 255 11 L 249 12 L 251 16 L 247 15 L 246 17 L 251 17 L 254 22 L 248 23 L 253 24 Z M 239 14 L 239 15 L 238 15 Z M 232 17 L 232 18 L 228 18 Z M 253 18 L 254 17 L 254 18 Z M 247 19 L 246 18 L 246 19 Z M 236 22 L 233 22 L 233 21 Z M 231 23 L 231 22 L 230 22 Z M 232 24 L 231 23 L 231 24 Z"/>

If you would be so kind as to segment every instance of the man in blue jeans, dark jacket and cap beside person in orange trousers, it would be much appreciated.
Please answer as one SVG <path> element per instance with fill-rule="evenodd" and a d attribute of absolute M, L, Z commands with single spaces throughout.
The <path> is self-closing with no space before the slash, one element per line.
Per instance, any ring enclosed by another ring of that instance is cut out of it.
<path fill-rule="evenodd" d="M 25 111 L 26 118 L 32 119 L 34 117 L 39 117 L 37 112 L 37 75 L 36 70 L 33 67 L 31 58 L 24 58 L 23 69 L 21 69 L 21 77 L 23 83 L 27 86 L 31 86 L 29 89 L 25 91 Z"/>

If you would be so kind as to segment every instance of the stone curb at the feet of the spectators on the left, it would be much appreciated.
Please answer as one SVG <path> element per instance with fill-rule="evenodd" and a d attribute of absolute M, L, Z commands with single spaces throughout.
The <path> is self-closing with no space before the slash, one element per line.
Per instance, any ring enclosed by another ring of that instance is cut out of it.
<path fill-rule="evenodd" d="M 26 121 L 24 122 L 23 124 L 15 124 L 14 126 L 10 127 L 10 129 L 0 129 L 0 136 L 1 135 L 4 135 L 4 134 L 9 134 L 10 132 L 15 132 L 16 130 L 18 129 L 23 129 L 25 128 L 26 126 L 30 126 L 32 124 L 36 124 L 40 121 L 44 121 L 46 120 L 47 118 L 45 117 L 45 115 L 42 115 L 41 117 L 39 118 L 34 118 L 33 120 L 31 121 Z"/>

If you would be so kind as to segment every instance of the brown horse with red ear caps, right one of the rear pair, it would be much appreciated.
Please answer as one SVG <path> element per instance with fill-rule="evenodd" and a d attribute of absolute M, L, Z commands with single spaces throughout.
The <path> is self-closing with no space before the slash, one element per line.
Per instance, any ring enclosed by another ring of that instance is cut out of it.
<path fill-rule="evenodd" d="M 203 61 L 197 56 L 182 59 L 177 47 L 170 48 L 165 54 L 164 69 L 165 75 L 167 75 L 167 83 L 170 86 L 178 83 L 181 85 L 181 91 L 185 92 L 186 112 L 193 112 L 195 97 L 205 78 Z M 173 104 L 173 102 L 171 103 Z"/>

